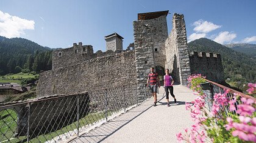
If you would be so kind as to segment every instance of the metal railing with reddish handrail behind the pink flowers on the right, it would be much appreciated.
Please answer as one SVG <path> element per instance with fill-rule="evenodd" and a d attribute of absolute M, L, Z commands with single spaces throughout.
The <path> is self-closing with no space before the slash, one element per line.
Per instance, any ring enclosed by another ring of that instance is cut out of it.
<path fill-rule="evenodd" d="M 225 87 L 224 85 L 218 84 L 218 83 L 213 82 L 213 81 L 209 81 L 209 80 L 207 80 L 207 79 L 205 79 L 205 80 L 208 82 L 209 87 L 208 87 L 208 88 L 206 87 L 207 89 L 205 89 L 205 90 L 203 89 L 203 92 L 204 92 L 204 94 L 206 95 L 206 96 L 205 96 L 205 104 L 207 105 L 207 108 L 208 108 L 209 111 L 212 110 L 213 96 L 214 96 L 216 93 L 221 93 L 221 94 L 223 94 L 223 93 L 225 93 L 226 90 L 229 90 L 229 92 L 228 92 L 227 95 L 226 95 L 226 98 L 228 98 L 229 101 L 230 101 L 230 100 L 231 100 L 231 101 L 233 100 L 233 97 L 235 96 L 235 94 L 240 95 L 242 98 L 243 98 L 243 97 L 244 97 L 244 98 L 250 98 L 250 99 L 253 99 L 254 101 L 256 101 L 256 99 L 253 98 L 252 96 L 249 96 L 249 95 L 246 95 L 246 94 L 244 94 L 244 93 L 241 93 L 240 91 L 233 90 L 232 88 Z M 241 103 L 242 103 L 242 101 L 240 101 L 240 100 L 234 102 L 234 105 L 235 105 L 236 108 L 235 108 L 235 110 L 233 111 L 233 113 L 236 114 L 237 106 L 238 106 L 239 104 L 241 104 Z M 224 110 L 226 113 L 230 113 L 229 105 L 224 105 L 223 107 L 222 107 L 222 105 L 221 105 L 221 108 L 222 108 L 222 110 Z"/>

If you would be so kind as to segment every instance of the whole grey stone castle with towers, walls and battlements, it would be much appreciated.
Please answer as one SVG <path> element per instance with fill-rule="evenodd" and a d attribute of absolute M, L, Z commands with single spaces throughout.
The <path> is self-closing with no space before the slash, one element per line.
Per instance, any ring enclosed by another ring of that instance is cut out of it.
<path fill-rule="evenodd" d="M 52 70 L 40 74 L 37 96 L 80 93 L 127 84 L 146 84 L 150 67 L 163 82 L 169 68 L 176 84 L 187 85 L 187 78 L 201 73 L 215 82 L 224 81 L 221 56 L 188 52 L 183 15 L 174 13 L 168 35 L 169 11 L 138 13 L 133 21 L 134 48 L 123 50 L 123 37 L 105 36 L 107 52 L 93 52 L 93 46 L 73 44 L 52 53 Z"/>

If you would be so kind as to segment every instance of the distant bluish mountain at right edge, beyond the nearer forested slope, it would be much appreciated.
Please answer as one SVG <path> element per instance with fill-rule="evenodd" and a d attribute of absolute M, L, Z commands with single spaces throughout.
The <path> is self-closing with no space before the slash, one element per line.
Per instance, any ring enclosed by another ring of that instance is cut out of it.
<path fill-rule="evenodd" d="M 225 44 L 225 46 L 256 59 L 256 44 Z"/>

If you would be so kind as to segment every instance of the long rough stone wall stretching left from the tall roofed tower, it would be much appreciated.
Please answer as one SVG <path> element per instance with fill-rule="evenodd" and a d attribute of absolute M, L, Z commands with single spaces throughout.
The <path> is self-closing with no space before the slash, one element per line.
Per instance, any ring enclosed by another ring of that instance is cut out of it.
<path fill-rule="evenodd" d="M 54 68 L 40 74 L 37 97 L 134 84 L 135 71 L 134 50 Z"/>

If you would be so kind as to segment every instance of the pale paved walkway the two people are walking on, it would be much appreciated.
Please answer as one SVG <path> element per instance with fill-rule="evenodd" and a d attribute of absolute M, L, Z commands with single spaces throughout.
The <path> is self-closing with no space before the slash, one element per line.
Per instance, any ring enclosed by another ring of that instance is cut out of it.
<path fill-rule="evenodd" d="M 189 88 L 174 85 L 177 104 L 170 96 L 171 107 L 167 107 L 163 93 L 161 87 L 156 107 L 151 98 L 72 142 L 177 142 L 176 133 L 193 124 L 185 102 L 195 96 Z"/>

